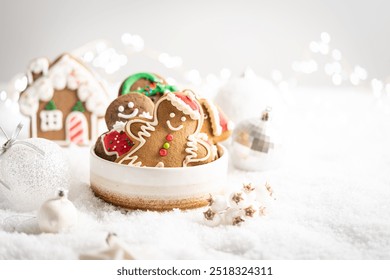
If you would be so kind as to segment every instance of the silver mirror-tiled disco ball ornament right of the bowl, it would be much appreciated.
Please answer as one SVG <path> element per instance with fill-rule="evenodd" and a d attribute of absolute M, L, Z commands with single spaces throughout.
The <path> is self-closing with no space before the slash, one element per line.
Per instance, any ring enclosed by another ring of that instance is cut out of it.
<path fill-rule="evenodd" d="M 247 171 L 263 171 L 280 162 L 280 138 L 267 107 L 260 118 L 240 122 L 232 137 L 234 166 Z"/>

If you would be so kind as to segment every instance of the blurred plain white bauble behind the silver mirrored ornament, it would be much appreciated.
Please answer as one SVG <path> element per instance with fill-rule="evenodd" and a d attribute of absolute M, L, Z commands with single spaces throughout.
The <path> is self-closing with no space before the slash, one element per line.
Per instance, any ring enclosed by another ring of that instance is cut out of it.
<path fill-rule="evenodd" d="M 250 70 L 222 87 L 215 98 L 215 103 L 235 124 L 258 117 L 259 112 L 267 106 L 272 107 L 278 117 L 282 116 L 283 110 L 282 97 L 274 85 Z"/>

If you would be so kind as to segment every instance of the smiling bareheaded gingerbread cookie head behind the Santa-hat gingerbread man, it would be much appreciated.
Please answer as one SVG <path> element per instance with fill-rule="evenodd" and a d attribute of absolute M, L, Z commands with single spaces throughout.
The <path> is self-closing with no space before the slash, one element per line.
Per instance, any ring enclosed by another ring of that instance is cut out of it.
<path fill-rule="evenodd" d="M 139 93 L 129 93 L 119 96 L 108 106 L 106 124 L 113 129 L 117 122 L 127 122 L 135 117 L 152 118 L 154 103 Z"/>

